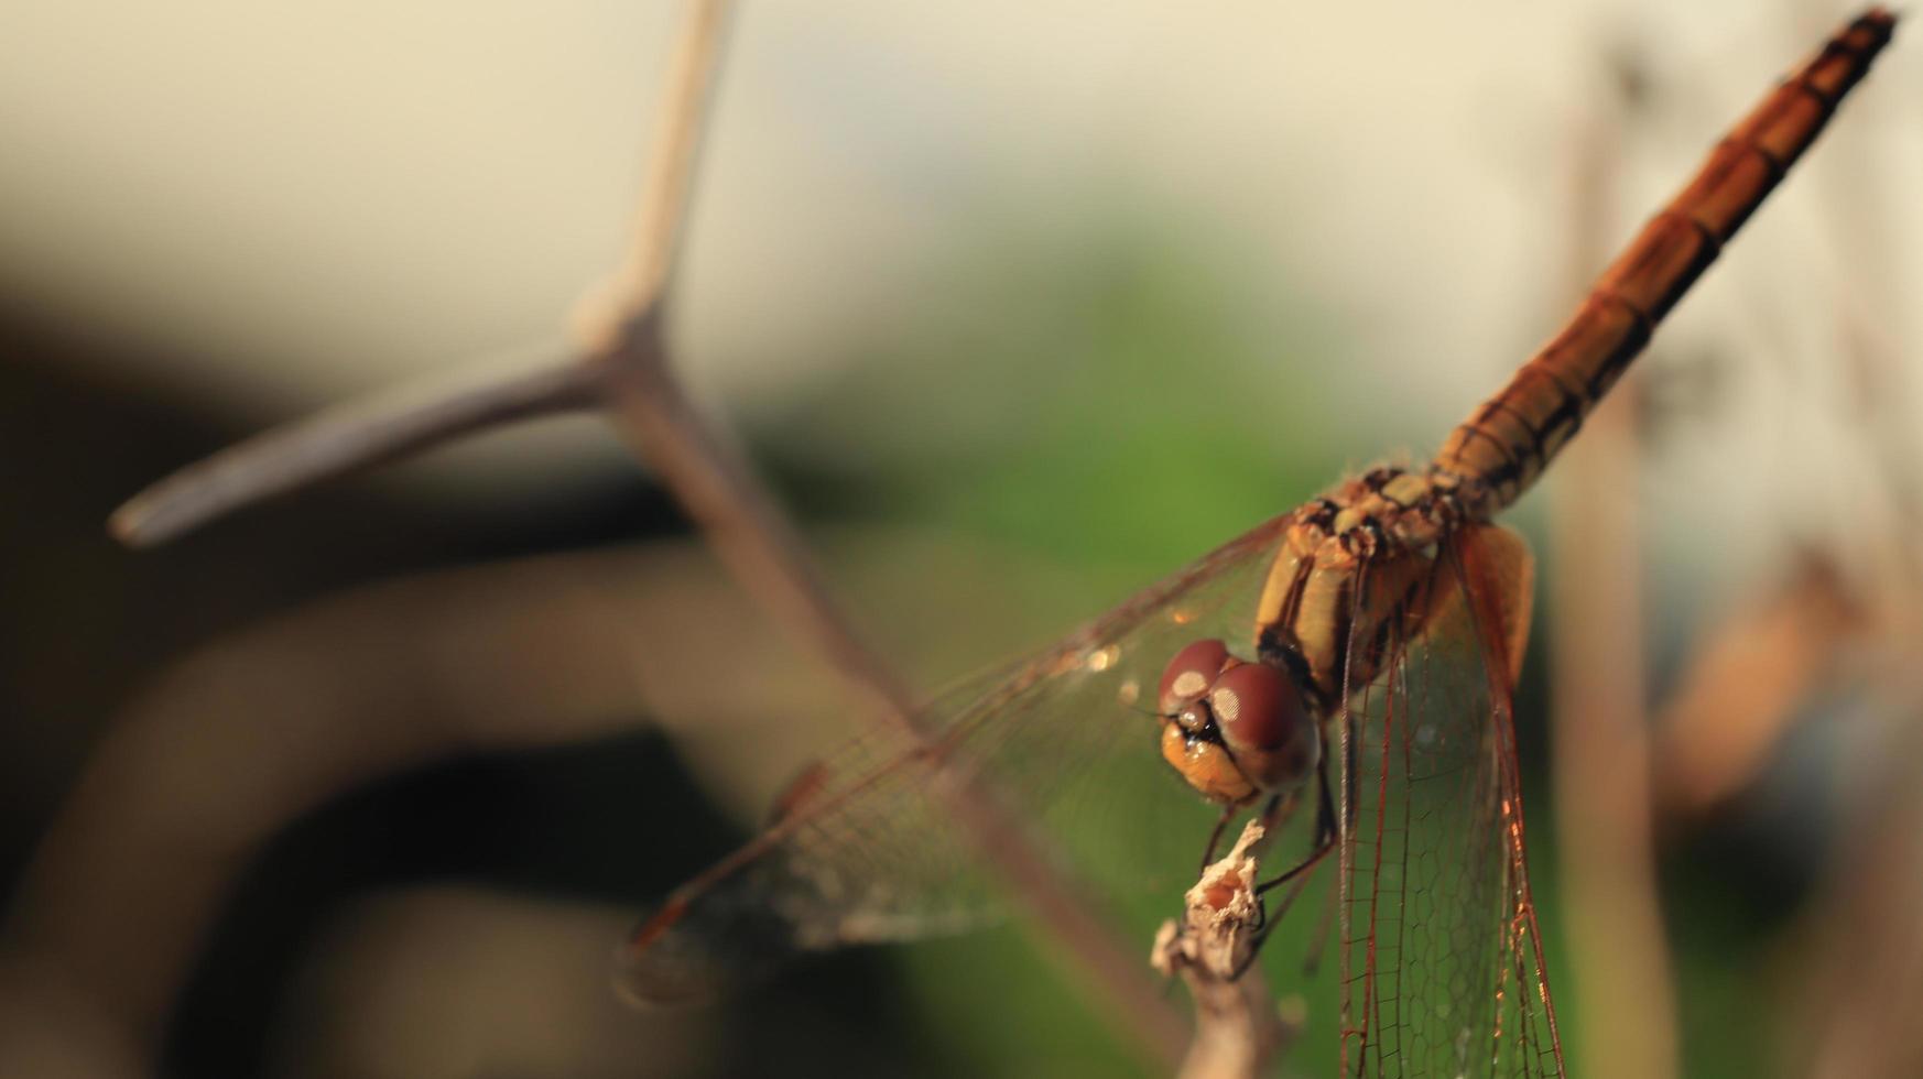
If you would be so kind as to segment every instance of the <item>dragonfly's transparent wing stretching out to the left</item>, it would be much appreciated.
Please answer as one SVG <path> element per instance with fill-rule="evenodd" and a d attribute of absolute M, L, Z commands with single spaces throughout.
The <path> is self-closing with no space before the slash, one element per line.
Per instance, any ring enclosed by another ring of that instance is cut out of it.
<path fill-rule="evenodd" d="M 623 948 L 644 1002 L 710 994 L 798 950 L 967 929 L 994 881 L 950 816 L 967 783 L 1048 842 L 1090 894 L 1194 881 L 1217 810 L 1165 765 L 1152 715 L 1163 664 L 1219 637 L 1252 654 L 1275 517 L 1042 654 L 940 694 L 919 737 L 877 729 L 804 771 L 767 831 L 677 889 Z"/>

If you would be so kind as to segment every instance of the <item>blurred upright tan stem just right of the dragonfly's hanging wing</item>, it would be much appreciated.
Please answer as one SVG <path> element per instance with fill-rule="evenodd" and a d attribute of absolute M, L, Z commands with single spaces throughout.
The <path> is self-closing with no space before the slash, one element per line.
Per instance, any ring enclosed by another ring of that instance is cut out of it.
<path fill-rule="evenodd" d="M 1571 279 L 1586 281 L 1606 227 L 1615 117 L 1575 154 Z M 1673 983 L 1656 887 L 1636 556 L 1635 373 L 1585 423 L 1552 502 L 1554 771 L 1558 852 L 1583 983 L 1577 1073 L 1675 1075 Z"/>

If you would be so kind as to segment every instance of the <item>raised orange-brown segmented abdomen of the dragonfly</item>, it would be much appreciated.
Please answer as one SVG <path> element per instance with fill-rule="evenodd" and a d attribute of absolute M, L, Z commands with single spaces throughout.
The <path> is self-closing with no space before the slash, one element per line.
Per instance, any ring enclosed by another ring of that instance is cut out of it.
<path fill-rule="evenodd" d="M 1615 385 L 1650 333 L 1815 140 L 1888 44 L 1873 8 L 1785 79 L 1604 271 L 1575 317 L 1442 444 L 1435 467 L 1481 489 L 1477 510 L 1513 502 Z"/>

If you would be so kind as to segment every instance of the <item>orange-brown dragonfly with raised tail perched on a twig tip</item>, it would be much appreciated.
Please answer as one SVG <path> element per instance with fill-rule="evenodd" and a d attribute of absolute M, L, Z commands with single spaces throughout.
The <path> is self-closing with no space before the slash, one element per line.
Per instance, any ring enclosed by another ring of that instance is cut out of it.
<path fill-rule="evenodd" d="M 765 831 L 625 941 L 625 992 L 702 996 L 796 952 L 983 923 L 992 873 L 938 796 L 958 783 L 1042 835 L 1079 837 L 1077 869 L 1096 885 L 1140 885 L 1138 862 L 1104 869 L 1102 854 L 1200 823 L 1144 794 L 1179 792 L 1173 773 L 1215 816 L 1208 852 L 1244 812 L 1313 817 L 1269 885 L 1335 854 L 1342 1073 L 1561 1075 L 1511 700 L 1533 562 L 1492 517 L 1577 435 L 1892 29 L 1871 8 L 1763 96 L 1431 462 L 1344 479 L 938 694 L 919 733 L 875 731 L 808 767 Z"/>

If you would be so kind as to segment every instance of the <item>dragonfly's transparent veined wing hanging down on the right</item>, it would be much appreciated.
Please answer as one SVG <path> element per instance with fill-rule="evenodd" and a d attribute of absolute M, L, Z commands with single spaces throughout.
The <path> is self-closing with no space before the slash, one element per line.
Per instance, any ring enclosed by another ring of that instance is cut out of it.
<path fill-rule="evenodd" d="M 1513 533 L 1446 540 L 1344 717 L 1344 1075 L 1563 1073 L 1510 700 L 1527 589 Z"/>

